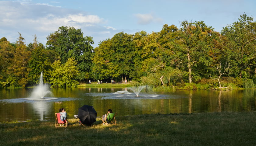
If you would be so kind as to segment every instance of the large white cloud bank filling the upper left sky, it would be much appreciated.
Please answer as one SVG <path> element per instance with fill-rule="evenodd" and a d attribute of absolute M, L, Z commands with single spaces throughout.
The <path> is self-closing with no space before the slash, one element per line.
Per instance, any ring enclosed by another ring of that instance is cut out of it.
<path fill-rule="evenodd" d="M 95 42 L 93 46 L 96 47 L 100 40 L 122 31 L 112 26 L 104 26 L 108 25 L 108 21 L 98 15 L 49 4 L 32 4 L 30 0 L 0 0 L 0 38 L 6 37 L 8 41 L 15 42 L 20 32 L 26 44 L 33 42 L 34 35 L 37 35 L 38 42 L 46 44 L 48 35 L 57 31 L 60 26 L 68 26 L 81 29 L 84 36 L 92 36 Z"/>

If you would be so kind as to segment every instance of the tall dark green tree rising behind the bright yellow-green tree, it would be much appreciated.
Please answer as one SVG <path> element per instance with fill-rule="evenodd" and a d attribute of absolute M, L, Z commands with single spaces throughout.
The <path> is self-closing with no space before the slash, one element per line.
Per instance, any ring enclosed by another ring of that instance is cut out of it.
<path fill-rule="evenodd" d="M 58 31 L 51 33 L 47 37 L 48 50 L 55 50 L 61 59 L 61 63 L 65 63 L 68 58 L 74 57 L 77 61 L 77 67 L 80 71 L 79 80 L 84 80 L 85 75 L 91 72 L 93 47 L 94 44 L 91 36 L 85 36 L 81 29 L 73 27 L 60 26 Z"/>

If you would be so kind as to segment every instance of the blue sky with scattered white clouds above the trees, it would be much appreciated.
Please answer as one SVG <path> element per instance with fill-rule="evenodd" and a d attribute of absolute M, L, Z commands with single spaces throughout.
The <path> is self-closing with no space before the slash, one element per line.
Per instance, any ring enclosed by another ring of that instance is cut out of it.
<path fill-rule="evenodd" d="M 43 45 L 60 26 L 92 36 L 93 47 L 116 33 L 159 32 L 164 24 L 204 21 L 215 31 L 256 15 L 255 0 L 0 0 L 0 38 Z M 255 21 L 255 19 L 254 19 Z"/>

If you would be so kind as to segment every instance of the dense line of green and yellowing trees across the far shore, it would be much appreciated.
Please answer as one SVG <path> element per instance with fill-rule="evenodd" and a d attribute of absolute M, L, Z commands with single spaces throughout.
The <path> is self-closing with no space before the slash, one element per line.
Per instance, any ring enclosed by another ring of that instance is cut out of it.
<path fill-rule="evenodd" d="M 19 33 L 20 34 L 20 33 Z M 165 24 L 160 32 L 116 33 L 93 48 L 93 37 L 81 29 L 60 26 L 44 46 L 0 40 L 0 87 L 26 87 L 44 82 L 76 87 L 87 80 L 133 80 L 152 87 L 209 83 L 222 87 L 223 78 L 254 88 L 256 22 L 243 14 L 216 32 L 203 21 Z M 244 84 L 250 82 L 249 84 Z"/>

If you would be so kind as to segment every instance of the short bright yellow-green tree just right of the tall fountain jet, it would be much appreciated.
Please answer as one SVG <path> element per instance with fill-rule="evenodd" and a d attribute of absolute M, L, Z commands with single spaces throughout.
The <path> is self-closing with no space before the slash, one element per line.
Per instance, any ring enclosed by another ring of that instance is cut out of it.
<path fill-rule="evenodd" d="M 76 76 L 79 72 L 76 64 L 74 58 L 69 58 L 65 64 L 61 64 L 60 60 L 55 61 L 50 71 L 52 87 L 76 87 L 78 85 Z"/>

